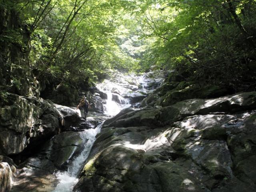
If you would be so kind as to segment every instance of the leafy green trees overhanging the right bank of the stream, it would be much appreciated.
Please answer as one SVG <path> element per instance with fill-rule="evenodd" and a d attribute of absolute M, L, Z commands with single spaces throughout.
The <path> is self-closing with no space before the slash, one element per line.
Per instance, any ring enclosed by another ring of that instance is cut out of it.
<path fill-rule="evenodd" d="M 136 14 L 156 37 L 145 64 L 176 68 L 184 78 L 255 88 L 255 0 L 145 1 Z"/>

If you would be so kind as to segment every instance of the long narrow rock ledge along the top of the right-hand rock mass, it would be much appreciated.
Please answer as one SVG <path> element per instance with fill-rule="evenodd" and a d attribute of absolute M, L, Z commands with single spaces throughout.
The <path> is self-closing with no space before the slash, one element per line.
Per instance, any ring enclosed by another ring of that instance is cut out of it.
<path fill-rule="evenodd" d="M 190 99 L 167 107 L 147 107 L 121 113 L 108 126 L 168 125 L 186 116 L 215 112 L 237 112 L 256 108 L 256 92 L 246 92 L 217 99 Z M 106 124 L 106 122 L 104 123 Z"/>

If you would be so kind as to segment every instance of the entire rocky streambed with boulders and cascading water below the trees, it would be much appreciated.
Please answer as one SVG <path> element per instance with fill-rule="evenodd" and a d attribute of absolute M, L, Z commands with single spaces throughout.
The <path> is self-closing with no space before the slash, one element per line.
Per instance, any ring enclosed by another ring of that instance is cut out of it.
<path fill-rule="evenodd" d="M 74 107 L 10 94 L 2 191 L 13 179 L 13 192 L 254 192 L 256 92 L 229 95 L 172 73 L 117 72 L 90 88 L 87 121 Z"/>

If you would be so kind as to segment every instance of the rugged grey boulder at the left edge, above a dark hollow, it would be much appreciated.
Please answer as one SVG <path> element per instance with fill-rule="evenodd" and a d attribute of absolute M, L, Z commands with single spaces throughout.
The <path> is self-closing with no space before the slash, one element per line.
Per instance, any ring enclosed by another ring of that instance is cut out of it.
<path fill-rule="evenodd" d="M 59 113 L 46 100 L 6 94 L 2 102 L 0 154 L 18 154 L 60 132 Z"/>

